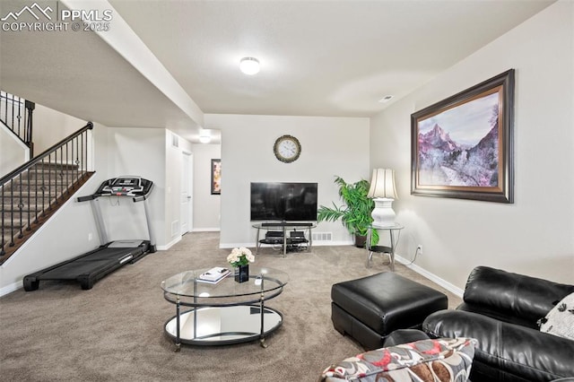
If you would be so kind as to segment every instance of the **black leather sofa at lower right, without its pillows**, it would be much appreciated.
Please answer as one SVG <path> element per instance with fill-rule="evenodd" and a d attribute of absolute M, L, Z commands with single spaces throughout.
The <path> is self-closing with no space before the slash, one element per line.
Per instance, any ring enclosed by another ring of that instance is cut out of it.
<path fill-rule="evenodd" d="M 479 266 L 468 277 L 464 302 L 431 314 L 422 330 L 478 340 L 473 382 L 570 380 L 574 341 L 542 333 L 537 321 L 573 292 L 574 285 Z"/>

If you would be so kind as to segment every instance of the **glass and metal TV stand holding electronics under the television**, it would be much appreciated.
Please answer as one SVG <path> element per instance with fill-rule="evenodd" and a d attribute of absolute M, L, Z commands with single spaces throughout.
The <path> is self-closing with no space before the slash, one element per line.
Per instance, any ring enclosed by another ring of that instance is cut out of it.
<path fill-rule="evenodd" d="M 313 245 L 311 230 L 316 227 L 315 223 L 308 221 L 273 221 L 253 224 L 253 228 L 257 229 L 256 254 L 259 253 L 259 247 L 262 244 L 282 245 L 283 257 L 286 256 L 288 249 L 301 245 L 306 246 L 310 251 Z M 261 230 L 265 230 L 265 239 L 259 239 Z"/>

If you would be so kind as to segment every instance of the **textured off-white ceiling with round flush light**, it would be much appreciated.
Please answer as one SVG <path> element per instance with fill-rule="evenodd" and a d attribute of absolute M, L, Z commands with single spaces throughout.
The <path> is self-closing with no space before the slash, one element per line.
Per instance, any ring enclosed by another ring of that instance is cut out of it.
<path fill-rule="evenodd" d="M 0 15 L 31 3 L 3 0 Z M 204 113 L 335 117 L 378 113 L 552 3 L 100 2 Z M 170 94 L 92 32 L 2 31 L 0 49 L 5 91 L 108 126 L 196 131 Z M 261 72 L 241 74 L 243 56 L 256 56 Z M 395 99 L 379 103 L 387 94 Z"/>

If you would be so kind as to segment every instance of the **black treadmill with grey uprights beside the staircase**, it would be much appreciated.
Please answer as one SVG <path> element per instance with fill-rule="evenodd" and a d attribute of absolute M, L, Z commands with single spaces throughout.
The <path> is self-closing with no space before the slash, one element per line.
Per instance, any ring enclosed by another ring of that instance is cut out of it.
<path fill-rule="evenodd" d="M 36 291 L 41 280 L 77 281 L 80 282 L 83 290 L 90 290 L 95 282 L 107 274 L 128 263 L 134 264 L 148 253 L 155 252 L 155 240 L 148 207 L 148 197 L 152 192 L 152 187 L 151 180 L 137 176 L 123 176 L 106 180 L 92 195 L 78 197 L 78 202 L 89 201 L 91 203 L 100 235 L 100 247 L 39 272 L 28 274 L 23 279 L 24 291 Z M 145 223 L 150 239 L 108 241 L 99 204 L 99 198 L 106 196 L 127 196 L 132 197 L 134 203 L 143 202 Z"/>

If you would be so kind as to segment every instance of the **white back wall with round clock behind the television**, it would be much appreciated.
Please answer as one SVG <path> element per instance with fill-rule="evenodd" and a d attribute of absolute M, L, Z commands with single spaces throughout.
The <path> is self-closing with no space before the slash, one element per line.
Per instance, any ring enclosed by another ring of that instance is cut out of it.
<path fill-rule="evenodd" d="M 349 182 L 370 176 L 368 118 L 213 114 L 204 118 L 206 128 L 222 131 L 221 247 L 255 245 L 249 221 L 250 182 L 317 182 L 318 204 L 331 204 L 339 203 L 335 175 Z M 273 146 L 281 135 L 299 139 L 299 160 L 275 159 Z M 352 243 L 339 221 L 322 222 L 316 231 L 333 232 L 331 244 Z"/>

